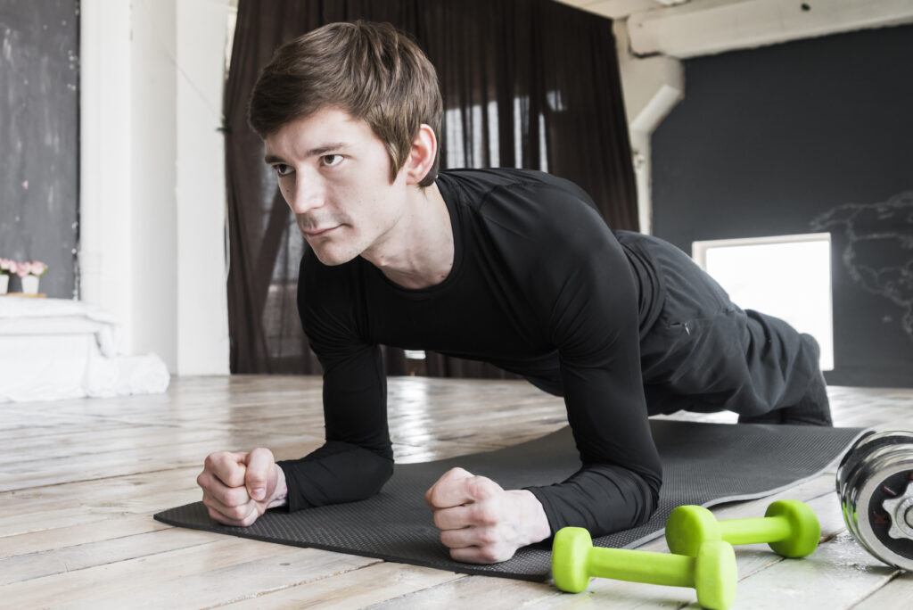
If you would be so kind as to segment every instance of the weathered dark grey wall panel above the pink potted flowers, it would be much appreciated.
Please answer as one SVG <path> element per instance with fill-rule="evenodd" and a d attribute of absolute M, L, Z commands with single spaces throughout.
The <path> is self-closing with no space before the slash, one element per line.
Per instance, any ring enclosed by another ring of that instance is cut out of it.
<path fill-rule="evenodd" d="M 0 257 L 72 298 L 78 221 L 79 2 L 0 0 Z"/>

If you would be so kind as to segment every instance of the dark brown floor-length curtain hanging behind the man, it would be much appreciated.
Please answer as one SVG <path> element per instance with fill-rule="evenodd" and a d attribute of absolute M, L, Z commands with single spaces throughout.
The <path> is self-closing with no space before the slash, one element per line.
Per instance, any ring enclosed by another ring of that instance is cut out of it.
<path fill-rule="evenodd" d="M 435 65 L 442 167 L 544 170 L 580 184 L 609 226 L 637 229 L 609 19 L 550 0 L 240 0 L 225 97 L 232 373 L 320 373 L 296 309 L 306 245 L 247 127 L 247 99 L 280 44 L 354 19 L 392 23 Z M 388 374 L 414 370 L 401 350 L 384 353 Z M 509 376 L 431 353 L 421 372 Z"/>

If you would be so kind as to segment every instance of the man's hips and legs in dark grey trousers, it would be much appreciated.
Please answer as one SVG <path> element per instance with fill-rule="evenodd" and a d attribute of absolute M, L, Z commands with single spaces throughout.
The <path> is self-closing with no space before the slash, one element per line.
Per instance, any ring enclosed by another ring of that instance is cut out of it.
<path fill-rule="evenodd" d="M 741 310 L 677 247 L 654 237 L 623 238 L 651 261 L 663 286 L 662 311 L 641 342 L 651 414 L 729 410 L 740 421 L 769 415 L 777 423 L 830 425 L 810 336 Z"/>

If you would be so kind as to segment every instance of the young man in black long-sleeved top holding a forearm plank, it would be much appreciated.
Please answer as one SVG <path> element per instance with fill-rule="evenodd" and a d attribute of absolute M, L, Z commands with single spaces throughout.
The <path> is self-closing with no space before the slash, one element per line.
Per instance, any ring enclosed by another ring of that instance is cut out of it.
<path fill-rule="evenodd" d="M 379 345 L 484 360 L 563 395 L 582 468 L 502 489 L 456 468 L 427 491 L 458 561 L 509 559 L 566 525 L 593 535 L 656 509 L 647 415 L 829 425 L 817 345 L 742 311 L 668 244 L 613 232 L 582 189 L 523 170 L 437 172 L 434 68 L 391 26 L 331 24 L 278 49 L 250 122 L 310 249 L 299 313 L 323 366 L 327 442 L 276 463 L 206 458 L 217 521 L 361 500 L 393 472 Z"/>

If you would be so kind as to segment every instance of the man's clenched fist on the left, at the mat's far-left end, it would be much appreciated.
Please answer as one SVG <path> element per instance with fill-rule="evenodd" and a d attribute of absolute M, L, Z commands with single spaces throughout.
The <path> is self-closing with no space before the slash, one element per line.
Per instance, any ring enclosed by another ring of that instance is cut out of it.
<path fill-rule="evenodd" d="M 267 509 L 283 506 L 288 495 L 285 473 L 264 448 L 209 454 L 196 483 L 203 488 L 209 516 L 240 527 L 257 521 Z"/>

